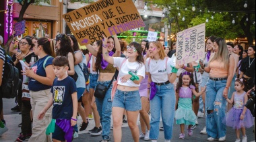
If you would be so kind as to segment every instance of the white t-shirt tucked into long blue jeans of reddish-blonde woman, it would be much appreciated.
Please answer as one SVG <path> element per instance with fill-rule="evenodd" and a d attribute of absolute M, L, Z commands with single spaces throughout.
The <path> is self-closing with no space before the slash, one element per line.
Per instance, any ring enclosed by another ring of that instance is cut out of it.
<path fill-rule="evenodd" d="M 168 74 L 172 73 L 172 68 L 170 66 L 175 66 L 175 64 L 173 64 L 170 58 L 168 58 L 166 64 L 166 58 L 158 61 L 151 58 L 146 60 L 146 72 L 150 72 L 153 82 L 163 83 L 168 81 Z M 148 62 L 150 62 L 150 64 L 148 64 Z"/>

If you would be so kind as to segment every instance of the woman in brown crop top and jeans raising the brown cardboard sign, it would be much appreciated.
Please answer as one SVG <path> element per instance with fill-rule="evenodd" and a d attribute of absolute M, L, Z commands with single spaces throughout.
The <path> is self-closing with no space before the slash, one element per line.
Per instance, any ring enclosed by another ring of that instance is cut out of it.
<path fill-rule="evenodd" d="M 120 57 L 121 47 L 119 44 L 119 40 L 117 38 L 117 35 L 114 35 L 113 37 L 108 37 L 108 40 L 105 45 L 108 51 L 108 55 L 113 57 Z M 112 81 L 111 80 L 113 79 L 116 68 L 112 64 L 108 64 L 108 62 L 106 62 L 102 58 L 102 44 L 100 45 L 100 48 L 98 49 L 98 51 L 95 50 L 90 44 L 86 45 L 86 47 L 92 53 L 93 56 L 96 56 L 95 68 L 96 68 L 96 72 L 99 72 L 96 89 L 97 89 L 97 86 L 106 86 L 106 87 L 109 86 L 109 88 L 106 90 L 106 94 L 104 98 L 96 98 L 96 105 L 97 105 L 98 113 L 100 115 L 100 123 L 102 125 L 102 142 L 110 141 L 110 124 L 111 124 L 110 116 L 112 113 L 112 109 L 111 109 Z"/>

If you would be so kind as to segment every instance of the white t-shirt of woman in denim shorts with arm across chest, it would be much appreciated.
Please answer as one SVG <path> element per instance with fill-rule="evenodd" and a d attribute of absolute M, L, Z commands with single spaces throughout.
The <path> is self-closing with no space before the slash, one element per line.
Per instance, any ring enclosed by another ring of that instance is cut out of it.
<path fill-rule="evenodd" d="M 126 60 L 123 63 L 123 60 Z M 121 66 L 121 64 L 123 65 Z M 139 87 L 140 84 L 135 84 L 131 80 L 127 80 L 127 82 L 122 83 L 121 78 L 127 74 L 128 72 L 133 72 L 133 74 L 136 74 L 137 76 L 145 77 L 145 65 L 139 64 L 139 62 L 128 62 L 128 59 L 122 58 L 122 57 L 114 57 L 114 67 L 119 68 L 119 76 L 118 76 L 118 82 L 117 84 L 123 85 L 123 86 L 130 86 L 130 87 Z M 120 70 L 121 68 L 121 70 Z"/>

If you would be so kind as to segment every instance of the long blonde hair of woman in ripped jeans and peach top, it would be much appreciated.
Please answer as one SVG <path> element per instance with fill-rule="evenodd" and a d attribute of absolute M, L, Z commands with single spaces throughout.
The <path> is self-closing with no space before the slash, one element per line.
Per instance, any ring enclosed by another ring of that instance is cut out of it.
<path fill-rule="evenodd" d="M 224 62 L 224 68 L 228 69 L 229 54 L 228 48 L 226 47 L 226 41 L 223 38 L 216 38 L 214 42 L 216 42 L 219 48 L 218 52 L 214 54 L 214 57 L 210 60 L 210 62 L 213 62 L 214 60 L 221 60 L 221 62 Z"/>

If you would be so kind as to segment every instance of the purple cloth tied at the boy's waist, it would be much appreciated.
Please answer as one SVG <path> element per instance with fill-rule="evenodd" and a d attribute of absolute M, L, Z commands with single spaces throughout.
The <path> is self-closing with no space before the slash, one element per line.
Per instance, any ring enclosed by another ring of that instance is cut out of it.
<path fill-rule="evenodd" d="M 67 142 L 72 141 L 73 127 L 71 127 L 71 121 L 67 119 L 56 119 L 56 125 L 59 126 L 63 132 L 65 132 L 65 139 Z"/>

